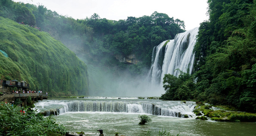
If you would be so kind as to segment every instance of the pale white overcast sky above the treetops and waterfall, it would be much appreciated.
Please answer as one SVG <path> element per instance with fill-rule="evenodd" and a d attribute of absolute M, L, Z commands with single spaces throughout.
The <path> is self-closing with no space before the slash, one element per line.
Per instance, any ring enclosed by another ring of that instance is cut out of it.
<path fill-rule="evenodd" d="M 47 9 L 73 19 L 90 18 L 96 13 L 101 19 L 120 20 L 127 17 L 165 13 L 185 22 L 186 30 L 199 27 L 208 20 L 207 0 L 13 0 L 14 2 L 44 5 Z"/>

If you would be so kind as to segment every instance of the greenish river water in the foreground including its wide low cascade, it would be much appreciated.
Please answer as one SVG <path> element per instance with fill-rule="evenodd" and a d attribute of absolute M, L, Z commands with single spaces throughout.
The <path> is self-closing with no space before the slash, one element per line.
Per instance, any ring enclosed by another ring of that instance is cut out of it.
<path fill-rule="evenodd" d="M 157 136 L 166 130 L 180 136 L 256 136 L 256 122 L 217 122 L 195 119 L 192 110 L 194 102 L 163 101 L 134 98 L 97 98 L 42 100 L 35 104 L 37 111 L 58 109 L 54 116 L 57 122 L 75 134 L 83 131 L 84 136 L 98 136 L 98 129 L 104 136 L 114 136 L 116 132 L 125 136 Z M 138 125 L 141 114 L 147 114 L 152 121 Z M 184 114 L 189 118 L 183 118 Z M 181 117 L 177 117 L 181 116 Z"/>

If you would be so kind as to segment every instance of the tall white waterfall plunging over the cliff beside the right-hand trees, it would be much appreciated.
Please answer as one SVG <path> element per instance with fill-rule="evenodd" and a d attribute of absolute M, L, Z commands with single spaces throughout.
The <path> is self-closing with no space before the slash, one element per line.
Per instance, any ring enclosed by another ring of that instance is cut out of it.
<path fill-rule="evenodd" d="M 176 34 L 173 40 L 166 40 L 155 46 L 152 53 L 151 68 L 148 78 L 151 83 L 160 83 L 164 74 L 178 76 L 180 69 L 183 72 L 189 68 L 190 74 L 193 70 L 195 55 L 194 45 L 198 28 Z"/>

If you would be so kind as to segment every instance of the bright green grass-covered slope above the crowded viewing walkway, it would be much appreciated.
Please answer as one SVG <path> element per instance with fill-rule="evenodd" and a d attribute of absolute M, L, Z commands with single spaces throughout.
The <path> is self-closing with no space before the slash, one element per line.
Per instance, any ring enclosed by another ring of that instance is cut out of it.
<path fill-rule="evenodd" d="M 25 80 L 50 96 L 86 95 L 87 66 L 47 32 L 0 17 L 0 78 Z"/>

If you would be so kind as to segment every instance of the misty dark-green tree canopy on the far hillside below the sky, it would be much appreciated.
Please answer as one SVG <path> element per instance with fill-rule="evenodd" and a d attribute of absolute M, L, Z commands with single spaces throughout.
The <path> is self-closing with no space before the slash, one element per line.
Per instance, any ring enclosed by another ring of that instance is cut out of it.
<path fill-rule="evenodd" d="M 4 0 L 0 4 L 1 16 L 36 25 L 70 49 L 83 50 L 96 57 L 95 60 L 135 54 L 145 66 L 149 66 L 153 47 L 184 31 L 183 21 L 156 11 L 151 16 L 127 17 L 119 21 L 101 19 L 96 13 L 90 18 L 75 20 L 50 11 L 43 5 L 15 3 L 11 0 Z"/>

